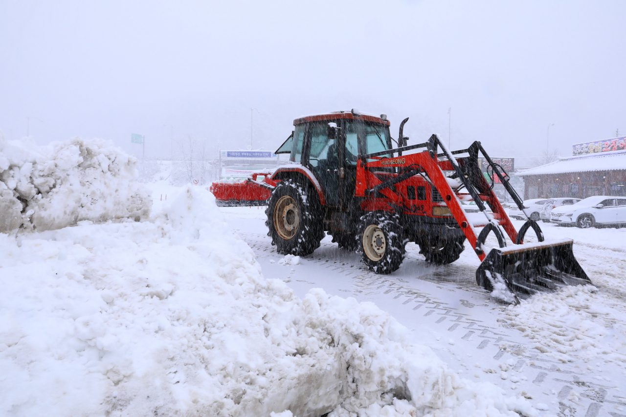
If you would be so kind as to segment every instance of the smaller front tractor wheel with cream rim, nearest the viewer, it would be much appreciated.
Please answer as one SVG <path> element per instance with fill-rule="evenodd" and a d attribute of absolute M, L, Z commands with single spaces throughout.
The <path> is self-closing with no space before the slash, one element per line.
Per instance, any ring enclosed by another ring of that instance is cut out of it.
<path fill-rule="evenodd" d="M 361 217 L 357 228 L 357 252 L 367 269 L 377 274 L 391 274 L 397 270 L 406 254 L 406 240 L 399 216 L 371 212 Z"/>

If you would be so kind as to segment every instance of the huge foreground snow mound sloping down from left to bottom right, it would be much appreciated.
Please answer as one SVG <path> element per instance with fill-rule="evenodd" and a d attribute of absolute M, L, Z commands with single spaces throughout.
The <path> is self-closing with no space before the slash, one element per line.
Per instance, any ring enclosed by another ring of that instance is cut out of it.
<path fill-rule="evenodd" d="M 0 234 L 0 414 L 535 416 L 374 304 L 262 276 L 188 186 L 151 222 Z"/>

